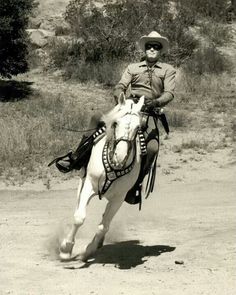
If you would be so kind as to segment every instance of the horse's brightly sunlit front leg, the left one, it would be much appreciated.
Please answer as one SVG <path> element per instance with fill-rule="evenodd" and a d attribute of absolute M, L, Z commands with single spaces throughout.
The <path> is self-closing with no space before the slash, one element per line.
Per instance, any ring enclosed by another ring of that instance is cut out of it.
<path fill-rule="evenodd" d="M 82 191 L 81 191 L 82 189 Z M 84 184 L 78 187 L 78 204 L 74 213 L 74 222 L 67 237 L 60 246 L 60 259 L 63 261 L 71 258 L 72 250 L 75 244 L 76 233 L 84 223 L 86 218 L 86 207 L 90 199 L 95 195 L 91 181 L 86 178 Z"/>

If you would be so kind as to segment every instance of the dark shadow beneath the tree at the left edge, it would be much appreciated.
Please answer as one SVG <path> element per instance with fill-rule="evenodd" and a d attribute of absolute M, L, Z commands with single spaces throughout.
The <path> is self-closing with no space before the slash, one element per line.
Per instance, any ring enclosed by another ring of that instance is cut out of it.
<path fill-rule="evenodd" d="M 26 99 L 33 92 L 32 84 L 33 82 L 0 79 L 0 102 Z"/>

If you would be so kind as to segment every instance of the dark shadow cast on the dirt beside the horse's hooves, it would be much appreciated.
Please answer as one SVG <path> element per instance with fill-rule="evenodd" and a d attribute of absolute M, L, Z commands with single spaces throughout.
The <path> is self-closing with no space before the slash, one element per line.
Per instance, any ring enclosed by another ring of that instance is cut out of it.
<path fill-rule="evenodd" d="M 119 269 L 130 269 L 143 264 L 150 256 L 159 256 L 174 250 L 175 247 L 166 245 L 143 246 L 139 240 L 124 241 L 103 246 L 94 260 L 86 262 L 80 268 L 87 268 L 92 264 L 114 264 Z"/>

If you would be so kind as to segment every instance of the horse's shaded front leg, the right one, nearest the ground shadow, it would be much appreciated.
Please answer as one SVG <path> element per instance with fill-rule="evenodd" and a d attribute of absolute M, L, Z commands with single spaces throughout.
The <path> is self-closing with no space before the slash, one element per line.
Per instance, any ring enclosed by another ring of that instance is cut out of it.
<path fill-rule="evenodd" d="M 119 210 L 119 208 L 121 207 L 123 201 L 123 197 L 119 198 L 118 196 L 116 196 L 107 203 L 105 212 L 102 217 L 102 221 L 98 225 L 98 231 L 96 232 L 91 243 L 89 243 L 86 247 L 85 252 L 80 255 L 81 260 L 86 261 L 88 258 L 95 254 L 97 249 L 103 246 L 103 241 L 105 239 L 106 233 L 109 230 L 110 223 L 117 211 Z"/>

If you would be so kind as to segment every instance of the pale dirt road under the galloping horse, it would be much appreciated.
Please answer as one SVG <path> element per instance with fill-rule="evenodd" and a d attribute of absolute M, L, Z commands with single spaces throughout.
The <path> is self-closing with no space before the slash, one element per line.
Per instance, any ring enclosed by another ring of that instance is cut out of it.
<path fill-rule="evenodd" d="M 236 183 L 234 173 L 223 177 L 229 171 L 192 183 L 160 175 L 141 212 L 123 205 L 87 264 L 56 255 L 76 181 L 71 189 L 2 190 L 0 294 L 235 294 Z M 91 202 L 75 253 L 93 237 L 105 202 Z"/>

